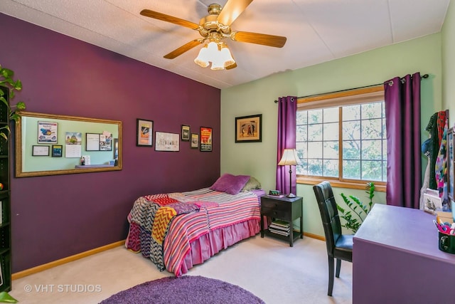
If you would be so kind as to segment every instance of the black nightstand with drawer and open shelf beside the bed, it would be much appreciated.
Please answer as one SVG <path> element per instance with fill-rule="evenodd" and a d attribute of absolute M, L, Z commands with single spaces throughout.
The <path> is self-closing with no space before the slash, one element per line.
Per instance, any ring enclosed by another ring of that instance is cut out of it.
<path fill-rule="evenodd" d="M 264 195 L 261 196 L 261 237 L 264 237 L 264 233 L 268 236 L 274 236 L 278 239 L 284 239 L 289 241 L 289 246 L 294 246 L 296 239 L 303 239 L 304 229 L 304 212 L 302 209 L 303 199 L 300 196 L 286 197 L 286 196 L 272 196 Z M 289 223 L 289 236 L 277 234 L 269 231 L 264 231 L 264 216 L 270 216 L 272 221 L 279 219 Z M 300 218 L 300 231 L 294 231 L 292 229 L 292 221 Z"/>

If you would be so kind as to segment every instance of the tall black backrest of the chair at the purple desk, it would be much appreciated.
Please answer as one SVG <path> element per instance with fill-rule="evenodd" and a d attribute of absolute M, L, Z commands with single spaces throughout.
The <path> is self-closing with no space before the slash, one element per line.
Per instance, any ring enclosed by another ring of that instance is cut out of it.
<path fill-rule="evenodd" d="M 333 257 L 333 250 L 336 241 L 341 236 L 341 222 L 336 209 L 336 201 L 333 196 L 331 184 L 321 182 L 313 186 L 319 211 L 321 212 L 322 225 L 326 235 L 326 246 L 328 256 Z"/>

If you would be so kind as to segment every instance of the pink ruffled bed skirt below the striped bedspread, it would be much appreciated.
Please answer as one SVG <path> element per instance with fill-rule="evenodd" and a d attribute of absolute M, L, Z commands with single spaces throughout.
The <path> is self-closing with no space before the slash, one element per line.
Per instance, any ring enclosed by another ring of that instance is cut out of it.
<path fill-rule="evenodd" d="M 188 269 L 202 264 L 211 256 L 235 243 L 255 236 L 260 231 L 260 222 L 257 219 L 242 221 L 231 226 L 210 231 L 191 242 L 191 251 L 188 252 L 181 265 L 181 275 L 188 273 Z"/>

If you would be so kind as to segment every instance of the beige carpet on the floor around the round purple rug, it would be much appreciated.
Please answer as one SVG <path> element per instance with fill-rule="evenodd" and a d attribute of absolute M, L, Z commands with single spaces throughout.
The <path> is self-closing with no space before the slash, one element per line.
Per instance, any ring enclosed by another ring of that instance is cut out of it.
<path fill-rule="evenodd" d="M 342 262 L 328 297 L 326 244 L 305 237 L 294 247 L 259 235 L 242 241 L 187 276 L 216 278 L 257 295 L 267 304 L 352 303 L 352 264 Z M 10 294 L 21 304 L 99 303 L 120 290 L 171 276 L 140 254 L 118 247 L 13 281 Z"/>

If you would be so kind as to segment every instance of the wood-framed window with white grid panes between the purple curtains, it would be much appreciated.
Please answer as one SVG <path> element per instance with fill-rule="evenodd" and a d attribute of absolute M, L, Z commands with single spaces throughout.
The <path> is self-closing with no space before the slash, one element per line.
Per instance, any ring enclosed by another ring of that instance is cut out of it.
<path fill-rule="evenodd" d="M 296 150 L 298 181 L 322 179 L 364 189 L 385 187 L 387 145 L 382 86 L 300 98 Z"/>

